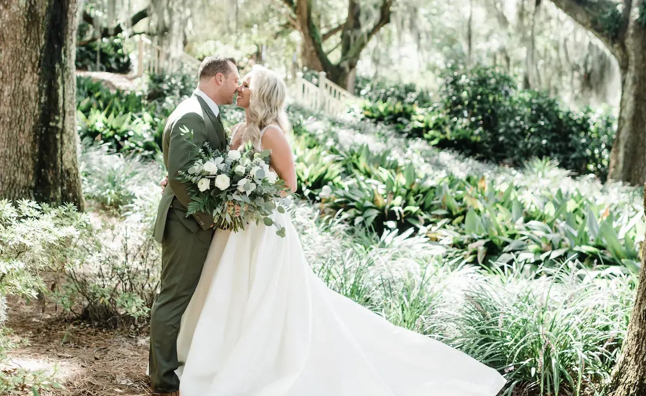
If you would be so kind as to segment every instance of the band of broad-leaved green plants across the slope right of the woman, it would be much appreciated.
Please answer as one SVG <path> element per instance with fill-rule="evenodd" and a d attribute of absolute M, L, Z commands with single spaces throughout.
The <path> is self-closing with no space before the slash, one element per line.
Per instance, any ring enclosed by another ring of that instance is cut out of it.
<path fill-rule="evenodd" d="M 294 131 L 298 155 L 312 150 L 339 158 L 314 160 L 307 168 L 315 173 L 297 172 L 300 188 L 355 224 L 378 233 L 415 228 L 451 248 L 447 255 L 483 265 L 577 259 L 638 268 L 645 229 L 640 189 L 576 181 L 553 161 L 532 161 L 517 172 L 445 160 L 448 153 L 428 144 L 365 125 L 308 119 Z"/>

